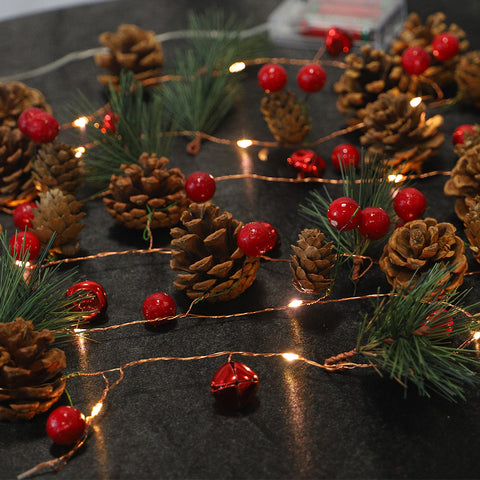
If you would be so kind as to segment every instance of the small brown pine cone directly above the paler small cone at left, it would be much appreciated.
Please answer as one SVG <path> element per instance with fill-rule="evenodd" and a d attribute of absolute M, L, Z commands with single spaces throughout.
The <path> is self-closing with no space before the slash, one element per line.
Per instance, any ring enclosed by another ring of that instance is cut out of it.
<path fill-rule="evenodd" d="M 82 161 L 75 148 L 65 143 L 47 143 L 32 160 L 33 181 L 38 191 L 59 188 L 75 195 L 83 181 Z"/>

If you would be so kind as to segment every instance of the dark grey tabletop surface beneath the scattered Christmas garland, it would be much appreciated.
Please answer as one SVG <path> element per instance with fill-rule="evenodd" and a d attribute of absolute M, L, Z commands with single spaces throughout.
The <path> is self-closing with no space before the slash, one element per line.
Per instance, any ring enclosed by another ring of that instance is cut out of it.
<path fill-rule="evenodd" d="M 480 48 L 479 2 L 409 3 L 422 17 L 445 11 L 449 22 L 467 31 L 471 48 Z M 136 23 L 157 33 L 184 28 L 188 10 L 211 5 L 253 15 L 261 23 L 276 2 L 128 0 L 6 22 L 0 24 L 0 76 L 43 65 L 71 51 L 96 47 L 97 36 L 115 30 L 120 23 Z M 167 70 L 173 47 L 172 42 L 164 45 Z M 292 86 L 295 70 L 288 69 Z M 85 60 L 25 82 L 44 92 L 54 113 L 67 120 L 65 107 L 77 98 L 77 89 L 92 103 L 102 104 L 102 88 L 95 79 L 98 73 L 93 61 Z M 325 89 L 311 98 L 314 138 L 345 125 L 335 109 L 331 89 L 340 71 L 329 69 L 328 75 Z M 218 136 L 270 139 L 259 113 L 262 92 L 256 84 L 256 69 L 248 71 L 243 86 L 242 98 Z M 455 106 L 444 114 L 446 141 L 426 170 L 450 169 L 455 161 L 450 143 L 453 129 L 478 121 L 478 112 L 468 106 Z M 356 141 L 355 136 L 349 139 Z M 187 175 L 202 169 L 216 176 L 242 171 L 294 176 L 286 164 L 286 151 L 272 151 L 268 162 L 261 162 L 255 150 L 242 156 L 234 149 L 205 143 L 198 156 L 189 157 L 184 146 L 183 140 L 177 142 L 171 163 Z M 324 144 L 317 153 L 328 159 L 333 146 L 332 142 Z M 335 176 L 331 167 L 327 176 Z M 443 195 L 444 182 L 444 177 L 437 177 L 415 186 L 427 196 L 428 214 L 461 229 L 453 201 Z M 297 206 L 312 188 L 231 180 L 218 184 L 214 201 L 244 222 L 266 220 L 275 225 L 285 258 L 298 232 L 309 226 L 298 217 Z M 10 217 L 1 214 L 0 223 L 13 231 Z M 86 224 L 81 254 L 145 247 L 138 233 L 115 226 L 100 201 L 88 204 Z M 168 232 L 155 234 L 156 246 L 167 246 L 168 242 Z M 105 287 L 109 324 L 123 323 L 140 319 L 143 299 L 158 290 L 172 294 L 178 310 L 185 311 L 188 302 L 172 286 L 174 275 L 168 261 L 169 257 L 162 255 L 93 260 L 79 265 L 79 277 Z M 473 261 L 471 268 L 476 269 Z M 353 294 L 345 276 L 338 282 L 338 296 Z M 360 282 L 357 293 L 372 293 L 377 286 L 388 288 L 383 274 L 373 268 Z M 468 277 L 465 287 L 473 288 L 470 301 L 479 299 L 477 277 Z M 239 299 L 210 307 L 200 305 L 196 312 L 255 310 L 284 305 L 298 296 L 285 264 L 263 263 L 255 284 Z M 163 332 L 143 326 L 121 329 L 95 335 L 99 343 L 88 343 L 86 355 L 68 347 L 68 371 L 97 371 L 144 357 L 223 350 L 296 351 L 321 362 L 354 346 L 354 322 L 358 310 L 366 308 L 366 304 L 346 303 L 304 308 L 294 314 L 180 320 Z M 103 418 L 87 445 L 60 473 L 46 478 L 478 478 L 478 391 L 468 391 L 468 401 L 457 405 L 438 398 L 418 398 L 413 390 L 404 399 L 398 385 L 373 372 L 327 374 L 281 359 L 253 358 L 243 361 L 260 376 L 258 402 L 247 412 L 228 415 L 215 406 L 209 392 L 211 378 L 222 361 L 156 363 L 127 370 L 124 381 L 109 395 Z M 88 413 L 103 384 L 100 379 L 77 378 L 67 387 L 75 405 Z M 0 478 L 12 478 L 62 453 L 45 435 L 46 417 L 0 426 Z"/>

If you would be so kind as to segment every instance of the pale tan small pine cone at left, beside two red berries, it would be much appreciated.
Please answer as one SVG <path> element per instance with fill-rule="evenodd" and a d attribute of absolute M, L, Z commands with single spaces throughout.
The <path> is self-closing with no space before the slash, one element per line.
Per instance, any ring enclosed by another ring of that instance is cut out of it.
<path fill-rule="evenodd" d="M 32 232 L 45 246 L 56 233 L 52 250 L 67 257 L 76 255 L 80 249 L 78 236 L 85 226 L 80 223 L 85 212 L 82 203 L 73 195 L 58 188 L 40 194 L 37 208 L 33 209 Z"/>

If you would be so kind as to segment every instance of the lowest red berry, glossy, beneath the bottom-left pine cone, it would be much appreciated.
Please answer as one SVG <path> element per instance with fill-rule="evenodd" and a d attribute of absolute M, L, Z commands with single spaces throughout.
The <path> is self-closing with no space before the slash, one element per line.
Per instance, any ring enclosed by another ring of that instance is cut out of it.
<path fill-rule="evenodd" d="M 72 445 L 83 435 L 86 422 L 74 407 L 58 407 L 47 419 L 47 435 L 58 445 Z"/>

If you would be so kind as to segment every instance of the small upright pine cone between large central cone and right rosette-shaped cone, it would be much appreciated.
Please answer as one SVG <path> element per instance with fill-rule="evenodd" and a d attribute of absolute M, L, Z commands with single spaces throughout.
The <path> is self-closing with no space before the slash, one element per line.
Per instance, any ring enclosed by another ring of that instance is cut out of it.
<path fill-rule="evenodd" d="M 337 260 L 333 242 L 325 243 L 325 235 L 311 228 L 302 230 L 297 245 L 291 247 L 295 253 L 290 256 L 295 288 L 313 294 L 327 289 L 333 282 L 330 274 Z"/>

